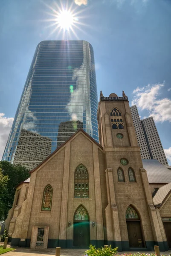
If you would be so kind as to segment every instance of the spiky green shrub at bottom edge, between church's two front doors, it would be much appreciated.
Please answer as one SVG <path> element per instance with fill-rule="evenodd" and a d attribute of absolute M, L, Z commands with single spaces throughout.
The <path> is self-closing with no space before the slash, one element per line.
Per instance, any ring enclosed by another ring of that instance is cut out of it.
<path fill-rule="evenodd" d="M 118 247 L 112 249 L 111 245 L 107 248 L 101 247 L 101 249 L 96 249 L 95 246 L 90 244 L 89 250 L 85 251 L 83 256 L 113 256 L 117 253 Z"/>

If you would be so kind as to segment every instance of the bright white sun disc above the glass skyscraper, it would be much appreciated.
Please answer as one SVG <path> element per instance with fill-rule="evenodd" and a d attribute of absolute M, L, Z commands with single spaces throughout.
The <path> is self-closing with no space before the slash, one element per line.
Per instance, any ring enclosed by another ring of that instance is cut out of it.
<path fill-rule="evenodd" d="M 57 17 L 57 22 L 61 28 L 70 29 L 74 23 L 74 17 L 70 11 L 62 10 Z"/>

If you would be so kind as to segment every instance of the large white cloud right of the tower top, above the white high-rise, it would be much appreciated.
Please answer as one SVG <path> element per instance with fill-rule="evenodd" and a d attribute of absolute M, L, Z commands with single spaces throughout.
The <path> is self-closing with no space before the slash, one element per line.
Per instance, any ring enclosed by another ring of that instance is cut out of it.
<path fill-rule="evenodd" d="M 137 87 L 133 90 L 132 105 L 137 105 L 142 110 L 148 110 L 149 116 L 153 116 L 157 122 L 171 122 L 171 99 L 158 99 L 162 84 L 148 84 L 146 87 Z"/>

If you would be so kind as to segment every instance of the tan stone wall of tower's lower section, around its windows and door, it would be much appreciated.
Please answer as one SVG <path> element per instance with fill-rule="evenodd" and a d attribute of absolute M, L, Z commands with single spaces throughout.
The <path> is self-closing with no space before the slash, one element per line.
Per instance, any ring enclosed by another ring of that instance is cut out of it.
<path fill-rule="evenodd" d="M 125 150 L 125 151 L 124 151 Z M 117 148 L 116 151 L 107 151 L 105 153 L 107 167 L 113 170 L 113 182 L 116 196 L 116 205 L 118 207 L 119 226 L 121 240 L 128 241 L 128 230 L 126 224 L 125 213 L 128 206 L 131 204 L 142 221 L 142 231 L 145 241 L 154 241 L 154 236 L 151 227 L 151 221 L 148 213 L 148 205 L 145 198 L 142 179 L 139 167 L 142 166 L 139 148 Z M 122 166 L 120 159 L 125 157 L 128 160 L 128 165 Z M 125 175 L 125 183 L 118 182 L 117 170 L 121 167 Z M 136 183 L 130 183 L 128 177 L 128 168 L 131 167 L 136 176 Z"/>

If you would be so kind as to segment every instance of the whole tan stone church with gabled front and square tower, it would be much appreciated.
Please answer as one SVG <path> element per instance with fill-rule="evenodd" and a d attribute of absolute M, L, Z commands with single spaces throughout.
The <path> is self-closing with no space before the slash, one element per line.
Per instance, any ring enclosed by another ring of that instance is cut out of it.
<path fill-rule="evenodd" d="M 12 245 L 168 250 L 171 185 L 154 204 L 128 98 L 100 96 L 100 142 L 79 129 L 17 186 L 6 220 Z"/>

